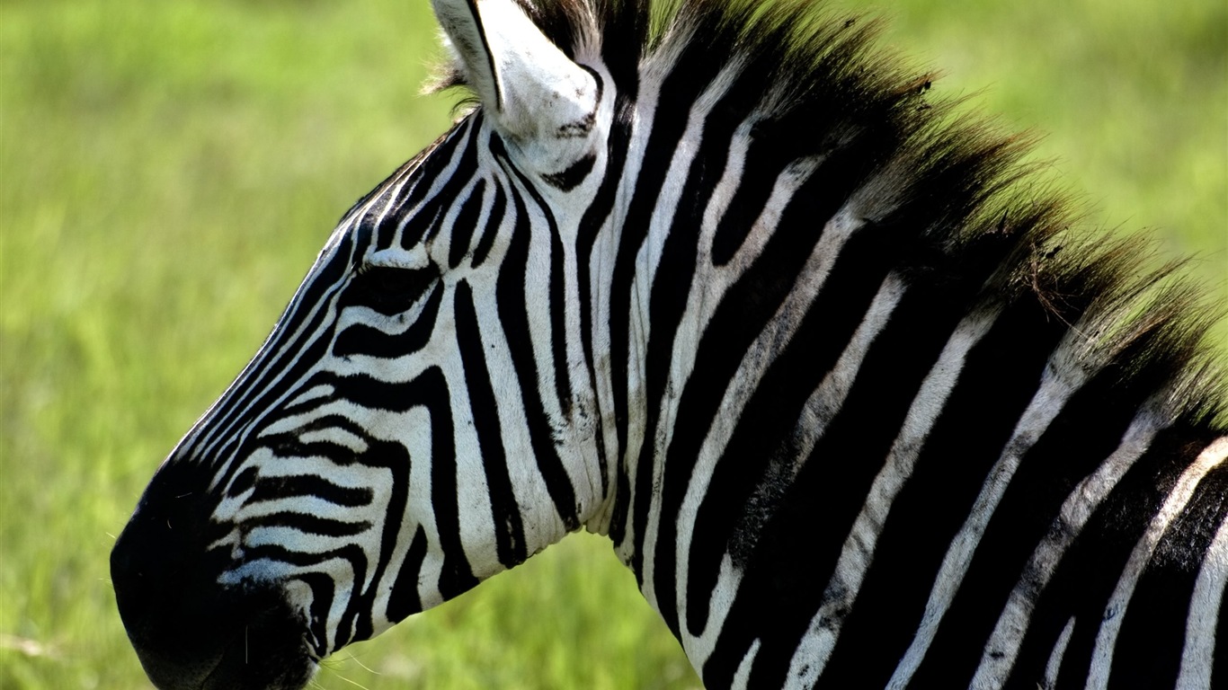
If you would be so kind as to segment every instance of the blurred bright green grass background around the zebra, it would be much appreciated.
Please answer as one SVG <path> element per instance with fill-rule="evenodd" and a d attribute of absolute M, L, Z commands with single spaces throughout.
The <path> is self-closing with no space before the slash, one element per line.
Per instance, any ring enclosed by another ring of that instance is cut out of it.
<path fill-rule="evenodd" d="M 1012 5 L 876 4 L 943 93 L 1051 133 L 1054 179 L 1228 301 L 1228 4 Z M 426 0 L 0 2 L 0 688 L 147 688 L 113 535 L 338 216 L 446 128 L 451 99 L 418 96 L 433 32 Z M 582 535 L 316 685 L 698 681 Z"/>

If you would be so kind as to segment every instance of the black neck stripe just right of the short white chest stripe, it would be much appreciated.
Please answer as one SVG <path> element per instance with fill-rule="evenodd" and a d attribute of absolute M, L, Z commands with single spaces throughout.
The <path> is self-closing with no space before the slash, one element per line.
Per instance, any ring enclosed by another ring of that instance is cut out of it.
<path fill-rule="evenodd" d="M 882 238 L 882 235 L 890 237 L 884 228 L 871 227 L 865 232 L 878 235 L 880 242 L 895 250 L 905 250 L 904 238 Z M 853 247 L 846 247 L 842 260 L 858 263 L 856 259 L 862 254 L 852 252 Z M 879 249 L 879 254 L 890 252 Z M 887 265 L 895 263 L 894 257 L 880 258 Z M 758 619 L 763 614 L 744 607 L 759 599 L 766 602 L 769 610 L 783 611 L 766 626 L 750 676 L 753 684 L 783 683 L 796 640 L 824 600 L 824 586 L 835 572 L 844 541 L 916 393 L 973 298 L 970 287 L 966 284 L 909 286 L 866 351 L 844 404 L 829 420 L 797 479 L 782 491 L 752 556 L 747 584 L 734 604 L 742 611 L 739 619 L 750 616 L 760 626 L 764 621 Z M 840 285 L 824 290 L 839 295 Z M 932 304 L 944 308 L 928 309 Z M 815 496 L 823 500 L 817 501 Z M 783 567 L 785 564 L 791 565 Z M 765 593 L 754 595 L 755 587 L 765 588 Z"/>

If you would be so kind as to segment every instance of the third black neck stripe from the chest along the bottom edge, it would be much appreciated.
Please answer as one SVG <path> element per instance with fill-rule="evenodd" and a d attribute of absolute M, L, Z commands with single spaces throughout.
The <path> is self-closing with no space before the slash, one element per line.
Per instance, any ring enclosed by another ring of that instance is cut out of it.
<path fill-rule="evenodd" d="M 917 306 L 904 302 L 898 312 Z M 1018 303 L 998 314 L 969 351 L 923 440 L 912 475 L 892 503 L 873 561 L 824 669 L 824 688 L 840 688 L 850 679 L 869 686 L 887 684 L 912 642 L 952 539 L 1032 400 L 1049 351 L 1065 331 L 1066 325 L 1039 306 Z M 919 335 L 927 333 L 922 328 Z M 895 346 L 906 350 L 910 339 L 901 333 Z M 1002 367 L 1003 361 L 1012 365 Z"/>

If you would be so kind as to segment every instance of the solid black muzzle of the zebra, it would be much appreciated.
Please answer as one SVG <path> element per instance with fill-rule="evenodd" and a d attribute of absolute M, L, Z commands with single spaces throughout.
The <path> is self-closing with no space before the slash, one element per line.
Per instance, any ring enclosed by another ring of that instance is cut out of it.
<path fill-rule="evenodd" d="M 119 616 L 161 690 L 297 690 L 316 664 L 284 586 L 223 586 L 228 549 L 212 500 L 169 465 L 155 475 L 111 551 Z"/>

